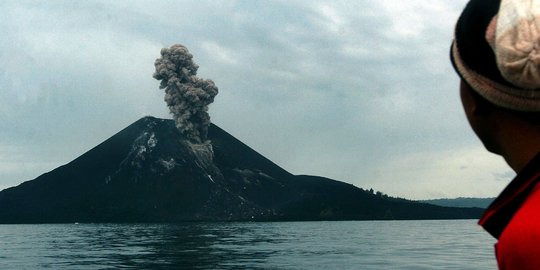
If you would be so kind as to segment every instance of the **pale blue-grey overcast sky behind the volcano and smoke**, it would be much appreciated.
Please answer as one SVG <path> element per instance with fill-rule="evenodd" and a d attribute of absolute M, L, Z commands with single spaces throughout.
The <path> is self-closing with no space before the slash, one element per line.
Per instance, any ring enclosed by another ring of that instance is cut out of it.
<path fill-rule="evenodd" d="M 464 0 L 1 1 L 0 189 L 139 118 L 180 43 L 212 122 L 294 174 L 409 199 L 496 196 L 514 176 L 469 129 L 448 60 Z"/>

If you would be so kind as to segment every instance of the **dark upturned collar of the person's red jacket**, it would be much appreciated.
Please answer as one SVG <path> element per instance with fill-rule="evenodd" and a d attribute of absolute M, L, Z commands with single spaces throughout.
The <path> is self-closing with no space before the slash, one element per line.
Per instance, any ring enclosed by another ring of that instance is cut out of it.
<path fill-rule="evenodd" d="M 486 209 L 478 224 L 499 239 L 506 225 L 540 182 L 540 154 L 508 184 L 503 192 Z"/>

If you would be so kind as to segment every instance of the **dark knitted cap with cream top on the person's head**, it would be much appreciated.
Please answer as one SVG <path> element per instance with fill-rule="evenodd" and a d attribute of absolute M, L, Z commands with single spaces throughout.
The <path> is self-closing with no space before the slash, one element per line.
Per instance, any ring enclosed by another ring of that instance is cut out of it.
<path fill-rule="evenodd" d="M 540 0 L 471 0 L 456 24 L 450 58 L 491 103 L 540 111 Z"/>

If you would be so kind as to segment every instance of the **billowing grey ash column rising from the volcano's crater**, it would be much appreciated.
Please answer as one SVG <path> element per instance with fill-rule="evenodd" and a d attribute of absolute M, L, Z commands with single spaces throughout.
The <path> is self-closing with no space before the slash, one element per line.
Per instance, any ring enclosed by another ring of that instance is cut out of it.
<path fill-rule="evenodd" d="M 161 49 L 154 65 L 154 78 L 161 80 L 159 88 L 165 89 L 165 102 L 176 127 L 191 142 L 205 143 L 210 125 L 208 105 L 214 102 L 218 88 L 212 80 L 197 77 L 199 66 L 183 45 Z"/>

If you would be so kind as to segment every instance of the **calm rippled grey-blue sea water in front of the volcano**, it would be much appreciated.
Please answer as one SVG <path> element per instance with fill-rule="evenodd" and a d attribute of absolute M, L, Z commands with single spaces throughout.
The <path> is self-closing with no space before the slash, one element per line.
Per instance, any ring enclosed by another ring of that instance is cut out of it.
<path fill-rule="evenodd" d="M 0 225 L 0 269 L 496 269 L 475 220 Z"/>

